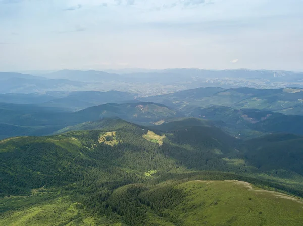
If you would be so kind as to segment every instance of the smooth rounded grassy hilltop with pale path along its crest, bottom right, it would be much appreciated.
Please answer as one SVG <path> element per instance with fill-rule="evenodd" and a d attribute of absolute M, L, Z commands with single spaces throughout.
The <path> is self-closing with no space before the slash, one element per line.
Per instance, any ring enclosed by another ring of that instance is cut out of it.
<path fill-rule="evenodd" d="M 303 201 L 239 181 L 190 181 L 175 187 L 182 204 L 163 213 L 181 225 L 301 225 Z"/>

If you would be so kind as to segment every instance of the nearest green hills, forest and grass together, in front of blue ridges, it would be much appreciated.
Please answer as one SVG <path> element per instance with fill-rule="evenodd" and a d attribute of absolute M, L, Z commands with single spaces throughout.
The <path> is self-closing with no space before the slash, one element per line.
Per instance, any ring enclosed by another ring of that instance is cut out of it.
<path fill-rule="evenodd" d="M 212 126 L 181 127 L 105 119 L 75 127 L 103 130 L 0 141 L 0 225 L 300 225 L 297 197 L 225 180 L 303 197 L 301 137 L 243 142 Z"/>

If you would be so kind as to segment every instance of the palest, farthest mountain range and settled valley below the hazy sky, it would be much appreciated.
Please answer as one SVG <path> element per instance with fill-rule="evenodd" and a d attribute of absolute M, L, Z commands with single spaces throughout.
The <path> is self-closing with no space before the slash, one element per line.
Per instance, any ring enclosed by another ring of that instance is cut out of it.
<path fill-rule="evenodd" d="M 40 76 L 1 72 L 0 93 L 34 93 L 47 91 L 119 90 L 151 96 L 180 90 L 218 86 L 225 89 L 303 88 L 302 73 L 278 70 L 201 70 L 195 68 L 166 70 L 114 71 L 60 70 Z"/>

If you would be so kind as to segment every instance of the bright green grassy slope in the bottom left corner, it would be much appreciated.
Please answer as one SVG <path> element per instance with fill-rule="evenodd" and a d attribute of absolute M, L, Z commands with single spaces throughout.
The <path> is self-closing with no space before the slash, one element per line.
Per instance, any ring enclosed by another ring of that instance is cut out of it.
<path fill-rule="evenodd" d="M 122 225 L 103 216 L 91 215 L 82 203 L 71 201 L 67 194 L 55 192 L 6 197 L 0 200 L 0 206 L 12 208 L 0 215 L 0 226 Z"/>

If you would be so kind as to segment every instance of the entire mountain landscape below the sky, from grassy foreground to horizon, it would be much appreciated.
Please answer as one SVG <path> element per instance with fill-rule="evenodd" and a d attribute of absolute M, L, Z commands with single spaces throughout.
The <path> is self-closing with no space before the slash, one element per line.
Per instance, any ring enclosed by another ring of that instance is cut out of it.
<path fill-rule="evenodd" d="M 0 226 L 302 224 L 300 73 L 63 70 L 0 82 Z"/>

